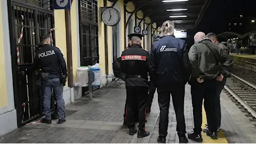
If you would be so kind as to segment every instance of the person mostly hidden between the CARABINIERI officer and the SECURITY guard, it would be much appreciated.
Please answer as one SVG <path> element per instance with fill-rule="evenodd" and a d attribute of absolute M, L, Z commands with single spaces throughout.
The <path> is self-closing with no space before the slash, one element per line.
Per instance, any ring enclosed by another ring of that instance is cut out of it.
<path fill-rule="evenodd" d="M 160 40 L 161 36 L 160 35 L 156 35 L 155 37 L 155 42 L 157 40 Z M 150 50 L 151 51 L 151 50 Z M 151 52 L 149 52 L 151 53 Z M 152 105 L 152 101 L 154 99 L 154 94 L 156 91 L 156 86 L 152 83 L 152 81 L 150 80 L 150 86 L 149 86 L 149 96 L 147 96 L 147 114 L 151 112 L 151 105 Z"/>

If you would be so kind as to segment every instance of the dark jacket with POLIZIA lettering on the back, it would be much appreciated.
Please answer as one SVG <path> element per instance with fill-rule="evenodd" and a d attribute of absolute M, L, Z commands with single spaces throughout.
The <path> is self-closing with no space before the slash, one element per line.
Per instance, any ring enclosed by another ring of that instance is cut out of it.
<path fill-rule="evenodd" d="M 33 69 L 42 69 L 42 73 L 50 74 L 50 79 L 61 78 L 61 74 L 67 75 L 66 62 L 60 49 L 49 44 L 45 44 L 41 49 L 38 49 Z"/>

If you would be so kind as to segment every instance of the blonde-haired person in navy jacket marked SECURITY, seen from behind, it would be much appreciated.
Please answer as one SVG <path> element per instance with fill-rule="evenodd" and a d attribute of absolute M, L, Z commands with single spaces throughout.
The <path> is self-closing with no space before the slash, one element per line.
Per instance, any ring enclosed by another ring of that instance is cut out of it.
<path fill-rule="evenodd" d="M 174 23 L 167 20 L 161 27 L 163 38 L 153 43 L 151 55 L 154 56 L 156 79 L 154 84 L 157 88 L 158 103 L 160 107 L 159 137 L 157 142 L 165 143 L 168 122 L 170 94 L 176 114 L 177 127 L 180 143 L 188 143 L 186 138 L 186 125 L 184 118 L 185 84 L 189 79 L 190 64 L 186 44 L 184 40 L 174 37 Z"/>

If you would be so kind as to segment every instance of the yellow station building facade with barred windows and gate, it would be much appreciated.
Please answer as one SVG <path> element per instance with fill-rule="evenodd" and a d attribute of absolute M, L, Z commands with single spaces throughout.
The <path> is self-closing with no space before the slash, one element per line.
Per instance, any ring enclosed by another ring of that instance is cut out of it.
<path fill-rule="evenodd" d="M 111 6 L 121 16 L 114 27 L 100 20 L 100 7 Z M 142 47 L 151 49 L 153 36 L 159 33 L 159 28 L 142 11 L 132 14 L 135 10 L 132 1 L 73 0 L 69 33 L 65 10 L 55 10 L 53 1 L 0 0 L 0 135 L 42 116 L 42 89 L 35 84 L 37 76 L 31 69 L 36 44 L 42 35 L 51 33 L 53 45 L 62 50 L 66 61 L 72 61 L 68 69 L 72 71 L 73 84 L 67 83 L 63 89 L 65 104 L 68 104 L 83 93 L 76 85 L 78 67 L 99 63 L 101 87 L 111 81 L 107 76 L 113 74 L 112 62 L 127 47 L 127 34 L 133 33 L 135 26 L 147 28 Z M 71 51 L 67 49 L 70 43 L 67 37 L 70 36 L 72 55 L 68 56 Z"/>

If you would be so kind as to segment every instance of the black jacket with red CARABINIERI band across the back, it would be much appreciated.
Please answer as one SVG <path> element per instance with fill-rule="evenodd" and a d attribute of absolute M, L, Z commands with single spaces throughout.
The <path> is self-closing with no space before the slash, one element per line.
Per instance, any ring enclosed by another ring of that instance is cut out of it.
<path fill-rule="evenodd" d="M 121 55 L 121 70 L 126 74 L 126 86 L 149 87 L 150 55 L 139 44 L 132 44 Z"/>

